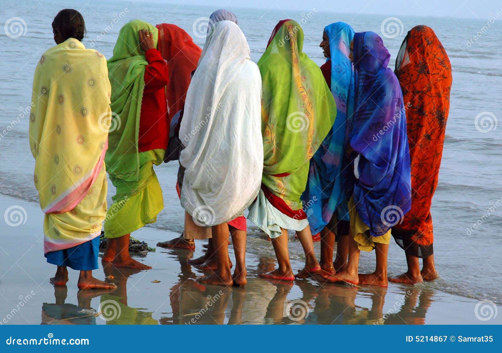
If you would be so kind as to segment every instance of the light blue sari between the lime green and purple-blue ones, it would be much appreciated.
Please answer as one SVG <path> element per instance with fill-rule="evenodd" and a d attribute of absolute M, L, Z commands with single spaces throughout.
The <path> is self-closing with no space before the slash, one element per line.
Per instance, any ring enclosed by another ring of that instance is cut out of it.
<path fill-rule="evenodd" d="M 309 180 L 302 200 L 313 234 L 328 224 L 334 212 L 348 220 L 347 199 L 343 192 L 342 157 L 347 141 L 346 120 L 353 111 L 354 75 L 349 59 L 354 30 L 336 22 L 324 28 L 329 39 L 331 93 L 336 101 L 336 120 L 310 161 Z"/>

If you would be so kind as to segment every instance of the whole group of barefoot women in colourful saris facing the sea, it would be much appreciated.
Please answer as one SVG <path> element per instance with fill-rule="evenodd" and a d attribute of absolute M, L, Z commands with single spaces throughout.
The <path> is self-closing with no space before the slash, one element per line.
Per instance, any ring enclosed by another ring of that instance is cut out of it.
<path fill-rule="evenodd" d="M 102 54 L 80 42 L 84 28 L 75 10 L 56 16 L 57 45 L 34 80 L 30 144 L 55 285 L 66 284 L 70 266 L 81 271 L 79 288 L 113 288 L 91 275 L 101 222 L 104 263 L 150 268 L 128 246 L 131 232 L 164 207 L 153 168 L 163 160 L 179 160 L 176 189 L 186 212 L 181 236 L 158 246 L 193 250 L 194 239 L 209 239 L 205 255 L 190 261 L 213 270 L 202 283 L 246 283 L 246 209 L 278 260 L 260 277 L 385 287 L 391 235 L 409 268 L 391 280 L 438 276 L 430 205 L 451 67 L 432 29 L 408 33 L 394 72 L 378 35 L 341 22 L 324 29 L 327 60 L 319 68 L 302 51 L 293 20 L 277 24 L 258 65 L 226 10 L 211 15 L 202 50 L 175 25 L 134 20 L 120 30 L 106 72 Z M 108 213 L 105 169 L 116 187 Z M 305 252 L 297 274 L 288 229 Z M 375 271 L 358 274 L 360 250 L 373 249 Z"/>

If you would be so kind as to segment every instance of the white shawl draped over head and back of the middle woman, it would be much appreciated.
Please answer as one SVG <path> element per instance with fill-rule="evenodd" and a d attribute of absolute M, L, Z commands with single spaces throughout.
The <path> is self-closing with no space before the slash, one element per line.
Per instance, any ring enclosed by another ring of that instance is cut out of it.
<path fill-rule="evenodd" d="M 206 38 L 185 101 L 179 137 L 186 168 L 181 205 L 198 225 L 243 214 L 263 171 L 262 79 L 249 46 L 231 21 Z"/>

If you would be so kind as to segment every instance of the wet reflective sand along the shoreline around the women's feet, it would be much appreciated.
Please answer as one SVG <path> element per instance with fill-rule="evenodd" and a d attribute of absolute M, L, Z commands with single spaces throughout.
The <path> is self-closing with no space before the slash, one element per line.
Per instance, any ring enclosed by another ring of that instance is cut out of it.
<path fill-rule="evenodd" d="M 293 284 L 258 278 L 275 260 L 270 251 L 248 254 L 244 287 L 199 284 L 204 272 L 186 261 L 202 255 L 156 248 L 138 260 L 149 271 L 99 264 L 94 276 L 117 285 L 112 292 L 78 291 L 78 272 L 69 269 L 66 287 L 49 283 L 56 267 L 43 257 L 43 213 L 37 203 L 0 195 L 0 216 L 11 206 L 22 218 L 2 224 L 0 243 L 0 323 L 2 324 L 501 324 L 502 315 L 483 321 L 486 306 L 477 300 L 443 293 L 430 284 L 390 284 L 389 288 L 320 285 L 313 280 Z M 23 213 L 22 208 L 26 211 Z M 12 211 L 11 211 L 12 212 Z M 24 221 L 26 221 L 24 223 Z M 178 234 L 146 227 L 135 238 L 155 247 Z M 264 247 L 271 247 L 263 241 Z M 316 244 L 319 251 L 319 243 Z M 270 249 L 269 249 L 270 250 Z M 232 247 L 229 247 L 233 259 Z M 264 255 L 265 254 L 265 255 Z M 233 261 L 233 260 L 232 260 Z M 299 266 L 294 265 L 294 270 Z M 156 283 L 156 281 L 160 281 Z M 484 311 L 483 311 L 484 308 Z M 484 315 L 484 316 L 483 316 Z"/>

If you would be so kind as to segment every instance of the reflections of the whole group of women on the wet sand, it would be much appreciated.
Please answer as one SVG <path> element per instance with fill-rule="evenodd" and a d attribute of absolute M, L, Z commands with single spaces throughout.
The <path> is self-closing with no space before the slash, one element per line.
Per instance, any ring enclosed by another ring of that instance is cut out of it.
<path fill-rule="evenodd" d="M 187 263 L 193 253 L 169 250 L 166 254 L 179 263 L 180 270 L 169 293 L 157 293 L 169 295 L 162 311 L 148 311 L 154 308 L 147 301 L 145 309 L 130 307 L 128 279 L 140 271 L 107 265 L 104 274 L 117 286 L 115 291 L 79 291 L 74 305 L 65 303 L 66 287 L 55 287 L 56 302 L 43 304 L 42 324 L 96 324 L 96 320 L 106 324 L 424 324 L 434 295 L 422 286 L 399 286 L 389 292 L 313 279 L 283 283 L 255 277 L 274 268 L 275 261 L 269 257 L 259 258 L 249 269 L 243 287 L 203 285 L 196 281 L 203 273 Z M 91 299 L 98 296 L 99 307 L 91 308 Z"/>

